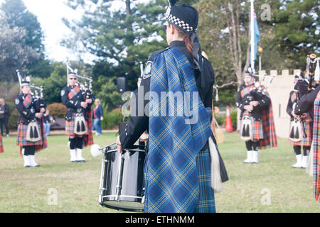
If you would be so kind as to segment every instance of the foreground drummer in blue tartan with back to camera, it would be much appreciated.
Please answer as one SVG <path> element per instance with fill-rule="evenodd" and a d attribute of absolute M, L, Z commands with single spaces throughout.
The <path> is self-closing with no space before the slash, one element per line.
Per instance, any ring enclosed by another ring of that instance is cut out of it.
<path fill-rule="evenodd" d="M 201 56 L 197 26 L 196 9 L 171 3 L 164 26 L 169 48 L 149 56 L 137 92 L 138 108 L 117 138 L 121 152 L 149 131 L 144 212 L 215 212 L 208 149 L 212 131 L 205 109 L 211 106 L 214 75 Z M 182 100 L 188 101 L 179 109 Z"/>

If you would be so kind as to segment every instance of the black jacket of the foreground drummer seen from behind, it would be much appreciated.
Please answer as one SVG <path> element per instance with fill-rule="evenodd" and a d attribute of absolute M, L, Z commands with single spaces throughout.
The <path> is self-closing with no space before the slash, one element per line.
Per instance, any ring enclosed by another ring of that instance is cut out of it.
<path fill-rule="evenodd" d="M 196 85 L 198 87 L 198 92 L 200 94 L 201 100 L 203 101 L 205 107 L 211 107 L 214 84 L 214 72 L 211 63 L 206 60 L 205 57 L 203 57 L 203 65 L 201 66 L 203 74 L 201 74 L 199 70 L 196 70 L 196 66 L 193 62 L 193 57 L 191 53 L 188 52 L 183 41 L 172 41 L 169 48 L 178 48 L 178 50 L 186 55 L 188 61 L 191 63 L 191 68 L 195 75 Z M 136 141 L 139 139 L 140 135 L 144 133 L 144 131 L 149 131 L 149 96 L 146 95 L 146 93 L 150 91 L 151 69 L 149 67 L 152 67 L 152 62 L 156 55 L 159 55 L 164 50 L 153 52 L 149 56 L 148 62 L 146 63 L 146 70 L 144 70 L 142 82 L 140 84 L 138 92 L 135 92 L 137 94 L 137 97 L 135 99 L 132 99 L 131 101 L 131 105 L 134 105 L 138 108 L 131 109 L 129 123 L 119 136 L 123 148 L 131 148 L 132 145 L 134 145 L 134 143 L 136 143 Z M 143 114 L 141 111 L 142 108 L 139 108 L 139 106 L 142 106 L 142 104 L 144 107 Z"/>

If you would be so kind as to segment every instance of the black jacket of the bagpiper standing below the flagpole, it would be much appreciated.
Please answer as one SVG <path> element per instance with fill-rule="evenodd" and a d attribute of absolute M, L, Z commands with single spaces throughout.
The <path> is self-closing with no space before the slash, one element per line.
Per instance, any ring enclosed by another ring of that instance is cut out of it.
<path fill-rule="evenodd" d="M 250 87 L 252 85 L 249 85 L 248 87 Z M 246 89 L 247 87 L 243 87 L 242 89 Z M 256 120 L 256 121 L 260 121 L 262 119 L 262 113 L 261 110 L 262 109 L 267 109 L 269 108 L 270 105 L 270 98 L 266 95 L 263 94 L 262 92 L 259 92 L 257 89 L 252 89 L 250 92 L 248 92 L 247 94 L 245 94 L 245 96 L 240 95 L 240 92 L 242 91 L 242 89 L 238 92 L 237 97 L 239 97 L 238 99 L 238 104 L 239 104 L 239 108 L 241 110 L 241 114 L 240 114 L 240 118 L 242 118 L 243 113 L 245 112 L 244 107 L 247 105 L 250 105 L 250 101 L 258 101 L 259 104 L 257 106 L 254 106 L 250 115 Z"/>

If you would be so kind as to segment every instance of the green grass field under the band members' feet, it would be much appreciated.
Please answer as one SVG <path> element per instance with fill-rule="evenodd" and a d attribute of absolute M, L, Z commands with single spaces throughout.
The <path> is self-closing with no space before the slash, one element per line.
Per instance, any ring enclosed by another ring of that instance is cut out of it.
<path fill-rule="evenodd" d="M 95 136 L 100 146 L 114 143 L 116 133 Z M 69 161 L 68 137 L 48 137 L 48 148 L 36 154 L 40 167 L 24 168 L 18 155 L 16 136 L 3 138 L 0 154 L 0 212 L 119 212 L 97 202 L 101 156 L 92 157 L 85 148 L 85 163 Z M 312 198 L 312 177 L 293 169 L 292 146 L 278 139 L 278 148 L 260 151 L 259 164 L 244 164 L 245 143 L 238 133 L 225 133 L 219 150 L 230 180 L 215 194 L 219 213 L 319 212 Z"/>

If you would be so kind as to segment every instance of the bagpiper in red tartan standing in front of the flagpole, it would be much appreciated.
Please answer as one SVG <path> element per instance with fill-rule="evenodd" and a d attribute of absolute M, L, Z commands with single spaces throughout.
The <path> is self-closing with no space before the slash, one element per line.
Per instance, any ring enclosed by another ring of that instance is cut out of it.
<path fill-rule="evenodd" d="M 236 100 L 241 111 L 240 135 L 247 148 L 247 158 L 243 162 L 258 163 L 259 149 L 277 147 L 272 103 L 265 87 L 255 82 L 251 69 L 245 72 L 244 82 Z"/>

